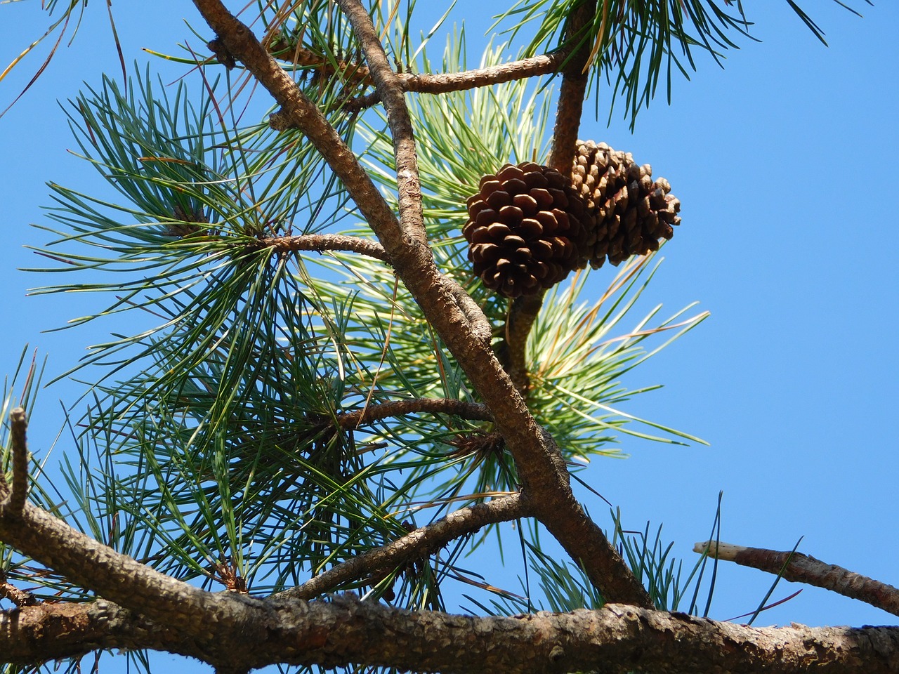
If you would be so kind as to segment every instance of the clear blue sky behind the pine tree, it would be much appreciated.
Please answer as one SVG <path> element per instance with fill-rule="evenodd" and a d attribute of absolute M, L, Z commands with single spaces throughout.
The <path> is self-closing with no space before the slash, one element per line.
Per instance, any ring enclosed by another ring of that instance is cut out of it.
<path fill-rule="evenodd" d="M 708 439 L 711 447 L 626 439 L 622 449 L 631 457 L 597 460 L 590 481 L 621 507 L 631 528 L 643 528 L 647 519 L 663 523 L 674 553 L 688 560 L 692 544 L 708 537 L 723 490 L 723 540 L 790 549 L 804 536 L 806 554 L 899 585 L 899 268 L 892 253 L 899 5 L 859 2 L 865 14 L 859 19 L 835 3 L 801 4 L 826 32 L 829 48 L 786 2 L 747 4 L 761 43 L 741 40 L 743 49 L 729 53 L 724 70 L 700 57 L 690 82 L 675 80 L 672 105 L 654 102 L 633 133 L 618 114 L 606 127 L 608 107 L 582 130 L 582 137 L 653 164 L 656 175 L 672 182 L 683 224 L 666 246 L 650 299 L 671 311 L 699 300 L 712 314 L 631 373 L 629 386 L 665 387 L 625 408 Z M 201 25 L 190 3 L 153 7 L 147 15 L 129 4 L 113 6 L 127 62 L 143 61 L 144 47 L 171 53 L 185 38 L 202 49 L 181 20 Z M 467 9 L 474 19 L 477 7 L 460 3 L 456 16 Z M 47 240 L 29 226 L 44 222 L 44 182 L 89 190 L 96 181 L 67 155 L 75 144 L 56 103 L 75 96 L 85 79 L 96 84 L 101 71 L 120 77 L 104 8 L 88 9 L 73 46 L 60 48 L 45 75 L 0 120 L 4 373 L 12 372 L 25 342 L 49 356 L 49 373 L 56 375 L 104 337 L 103 326 L 43 333 L 96 310 L 100 300 L 25 297 L 27 288 L 55 279 L 16 270 L 39 263 L 22 246 Z M 2 65 L 44 24 L 36 0 L 0 6 Z M 469 39 L 476 34 L 470 31 Z M 469 55 L 479 52 L 476 39 L 470 44 Z M 29 58 L 0 83 L 0 104 L 13 99 L 39 62 Z M 604 271 L 597 283 L 606 280 Z M 56 401 L 71 402 L 81 391 L 61 383 L 42 394 L 31 419 L 33 451 L 45 454 L 58 431 Z M 54 451 L 66 447 L 64 439 Z M 589 505 L 604 513 L 599 501 Z M 723 566 L 711 615 L 752 611 L 769 584 L 761 572 Z M 782 583 L 772 600 L 796 589 Z M 897 619 L 806 588 L 757 624 L 790 621 Z"/>

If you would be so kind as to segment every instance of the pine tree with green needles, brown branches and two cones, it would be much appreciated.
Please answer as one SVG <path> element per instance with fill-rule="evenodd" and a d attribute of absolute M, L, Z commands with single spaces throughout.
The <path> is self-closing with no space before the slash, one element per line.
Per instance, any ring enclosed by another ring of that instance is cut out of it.
<path fill-rule="evenodd" d="M 42 253 L 76 280 L 45 291 L 104 294 L 85 320 L 118 327 L 66 373 L 93 377 L 66 498 L 29 463 L 33 371 L 5 398 L 8 671 L 104 649 L 221 672 L 895 671 L 895 629 L 699 616 L 709 555 L 846 576 L 712 544 L 681 572 L 572 490 L 616 434 L 700 441 L 629 415 L 620 382 L 706 316 L 634 315 L 676 251 L 677 186 L 580 137 L 584 101 L 606 80 L 636 123 L 666 71 L 747 33 L 740 3 L 522 0 L 476 68 L 414 3 L 194 4 L 208 53 L 170 57 L 189 78 L 107 75 L 67 105 L 119 198 L 50 183 Z M 491 545 L 524 590 L 468 568 Z M 481 615 L 448 615 L 450 586 Z"/>

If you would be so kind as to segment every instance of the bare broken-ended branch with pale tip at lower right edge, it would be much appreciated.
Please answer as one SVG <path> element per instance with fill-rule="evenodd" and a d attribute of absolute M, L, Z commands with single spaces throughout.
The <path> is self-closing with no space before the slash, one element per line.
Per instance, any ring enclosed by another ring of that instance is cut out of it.
<path fill-rule="evenodd" d="M 707 550 L 709 556 L 719 560 L 777 573 L 787 581 L 832 590 L 899 616 L 899 589 L 841 566 L 824 563 L 810 555 L 729 543 L 716 544 L 715 541 L 693 545 L 693 552 L 705 553 Z"/>

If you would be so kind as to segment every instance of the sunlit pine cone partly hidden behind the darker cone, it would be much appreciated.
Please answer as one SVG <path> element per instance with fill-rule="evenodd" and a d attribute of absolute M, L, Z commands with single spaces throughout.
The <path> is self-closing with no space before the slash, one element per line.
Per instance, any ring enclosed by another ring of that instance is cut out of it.
<path fill-rule="evenodd" d="M 660 239 L 670 239 L 681 201 L 670 194 L 664 178 L 653 181 L 649 164 L 638 166 L 630 153 L 605 143 L 578 141 L 572 186 L 595 218 L 586 244 L 586 262 L 599 269 L 608 257 L 619 264 L 631 255 L 657 251 Z"/>

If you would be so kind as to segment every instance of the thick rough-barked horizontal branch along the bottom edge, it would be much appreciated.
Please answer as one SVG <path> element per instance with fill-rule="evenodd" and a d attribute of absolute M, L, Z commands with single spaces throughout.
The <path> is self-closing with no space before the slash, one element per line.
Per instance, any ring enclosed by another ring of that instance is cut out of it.
<path fill-rule="evenodd" d="M 235 593 L 224 601 L 244 604 Z M 639 671 L 660 674 L 893 674 L 899 628 L 766 627 L 717 623 L 623 605 L 513 617 L 410 612 L 352 596 L 330 602 L 255 601 L 251 638 L 219 639 L 229 670 L 273 663 L 353 663 L 446 674 Z M 257 639 L 258 637 L 258 639 Z M 93 649 L 154 648 L 207 660 L 174 630 L 107 602 L 0 614 L 4 661 L 27 664 Z"/>

